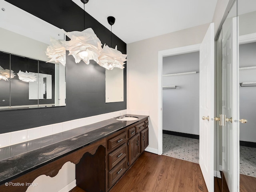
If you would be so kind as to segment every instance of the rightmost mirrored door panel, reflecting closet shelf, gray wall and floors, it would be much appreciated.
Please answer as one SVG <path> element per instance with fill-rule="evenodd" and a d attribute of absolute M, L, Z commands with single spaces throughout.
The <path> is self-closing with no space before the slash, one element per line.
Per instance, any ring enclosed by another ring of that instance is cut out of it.
<path fill-rule="evenodd" d="M 256 190 L 256 2 L 238 0 L 240 191 Z"/>

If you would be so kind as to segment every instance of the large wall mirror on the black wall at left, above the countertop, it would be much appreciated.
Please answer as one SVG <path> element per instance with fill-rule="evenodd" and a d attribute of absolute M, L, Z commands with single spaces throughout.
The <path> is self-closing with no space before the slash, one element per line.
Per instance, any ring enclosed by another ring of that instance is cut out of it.
<path fill-rule="evenodd" d="M 46 56 L 64 31 L 0 0 L 0 34 L 0 110 L 65 106 L 65 66 Z"/>

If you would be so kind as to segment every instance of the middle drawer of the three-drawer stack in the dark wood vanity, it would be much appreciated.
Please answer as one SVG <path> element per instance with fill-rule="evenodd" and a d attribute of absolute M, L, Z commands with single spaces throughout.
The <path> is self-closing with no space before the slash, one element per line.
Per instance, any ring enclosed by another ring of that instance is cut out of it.
<path fill-rule="evenodd" d="M 126 143 L 114 150 L 112 153 L 108 154 L 108 170 L 111 170 L 116 166 L 127 154 Z"/>

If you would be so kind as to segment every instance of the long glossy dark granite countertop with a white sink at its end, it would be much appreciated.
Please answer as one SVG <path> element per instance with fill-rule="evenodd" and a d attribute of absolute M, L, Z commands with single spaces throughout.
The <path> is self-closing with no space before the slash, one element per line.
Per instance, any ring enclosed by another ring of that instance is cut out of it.
<path fill-rule="evenodd" d="M 44 166 L 84 146 L 130 126 L 148 116 L 131 115 L 139 119 L 120 121 L 116 118 L 0 148 L 0 185 Z"/>

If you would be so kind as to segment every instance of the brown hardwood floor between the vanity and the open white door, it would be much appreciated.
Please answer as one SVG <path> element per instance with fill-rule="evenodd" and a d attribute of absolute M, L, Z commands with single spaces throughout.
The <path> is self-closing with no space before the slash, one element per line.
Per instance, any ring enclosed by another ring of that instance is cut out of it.
<path fill-rule="evenodd" d="M 110 192 L 208 192 L 199 164 L 144 152 Z"/>

